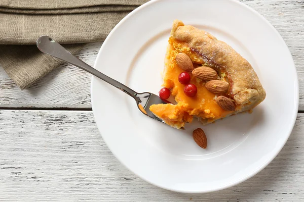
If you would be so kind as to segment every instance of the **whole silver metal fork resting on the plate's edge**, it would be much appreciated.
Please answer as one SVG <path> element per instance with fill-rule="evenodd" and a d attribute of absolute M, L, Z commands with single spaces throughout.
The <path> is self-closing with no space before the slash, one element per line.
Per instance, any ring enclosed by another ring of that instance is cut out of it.
<path fill-rule="evenodd" d="M 90 65 L 85 63 L 84 61 L 82 61 L 82 60 L 78 59 L 77 57 L 73 56 L 70 52 L 67 51 L 67 49 L 65 49 L 62 45 L 60 45 L 59 43 L 54 41 L 49 36 L 39 37 L 36 41 L 36 45 L 41 52 L 46 53 L 48 55 L 51 55 L 51 56 L 53 56 L 55 58 L 58 58 L 60 60 L 63 60 L 67 63 L 70 63 L 70 64 L 76 66 L 76 67 L 79 67 L 79 68 L 93 74 L 94 76 L 100 78 L 101 80 L 111 84 L 112 86 L 117 87 L 121 91 L 127 93 L 128 95 L 130 95 L 131 97 L 133 97 L 135 99 L 138 109 L 144 115 L 146 115 L 150 118 L 153 118 L 157 121 L 165 123 L 163 120 L 161 120 L 160 118 L 155 116 L 149 110 L 149 107 L 151 105 L 167 104 L 167 102 L 162 100 L 158 95 L 150 93 L 150 92 L 138 93 L 138 92 L 132 90 L 131 88 L 129 88 L 128 86 L 118 82 L 117 80 L 106 76 L 105 74 L 97 71 L 96 69 L 94 69 L 93 67 L 91 67 Z"/>

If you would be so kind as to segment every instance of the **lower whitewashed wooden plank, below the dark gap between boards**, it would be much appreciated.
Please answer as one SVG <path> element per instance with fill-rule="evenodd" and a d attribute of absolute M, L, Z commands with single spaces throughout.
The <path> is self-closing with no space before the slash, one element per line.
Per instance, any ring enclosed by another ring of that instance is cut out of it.
<path fill-rule="evenodd" d="M 182 194 L 124 168 L 91 111 L 0 110 L 0 201 L 303 201 L 304 114 L 277 158 L 235 187 Z M 192 199 L 191 199 L 192 198 Z"/>

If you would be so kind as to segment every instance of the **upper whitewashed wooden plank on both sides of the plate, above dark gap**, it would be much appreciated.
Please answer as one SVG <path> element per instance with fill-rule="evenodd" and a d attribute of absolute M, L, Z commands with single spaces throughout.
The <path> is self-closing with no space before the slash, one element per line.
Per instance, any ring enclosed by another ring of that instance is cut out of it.
<path fill-rule="evenodd" d="M 286 41 L 299 76 L 299 110 L 304 110 L 304 1 L 241 2 L 268 19 Z M 88 44 L 78 56 L 93 65 L 100 46 L 101 43 Z M 63 64 L 29 89 L 21 91 L 0 68 L 0 107 L 91 108 L 90 82 L 88 73 Z"/>

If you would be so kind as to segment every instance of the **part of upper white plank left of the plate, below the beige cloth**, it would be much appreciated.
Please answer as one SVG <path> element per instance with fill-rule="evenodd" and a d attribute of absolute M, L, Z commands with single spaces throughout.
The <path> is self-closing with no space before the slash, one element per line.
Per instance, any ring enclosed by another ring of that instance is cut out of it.
<path fill-rule="evenodd" d="M 77 57 L 93 66 L 101 44 L 87 44 Z M 91 74 L 67 63 L 25 90 L 0 68 L 0 107 L 91 108 L 90 86 Z"/>

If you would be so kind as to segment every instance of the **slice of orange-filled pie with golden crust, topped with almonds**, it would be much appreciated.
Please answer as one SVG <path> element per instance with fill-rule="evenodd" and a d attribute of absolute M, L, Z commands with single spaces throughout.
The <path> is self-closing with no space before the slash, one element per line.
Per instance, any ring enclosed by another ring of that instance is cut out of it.
<path fill-rule="evenodd" d="M 179 76 L 187 72 L 195 94 L 186 93 Z M 180 129 L 199 118 L 203 124 L 251 111 L 265 98 L 256 73 L 240 54 L 210 33 L 175 20 L 165 58 L 164 87 L 177 105 L 150 106 L 168 125 Z"/>

